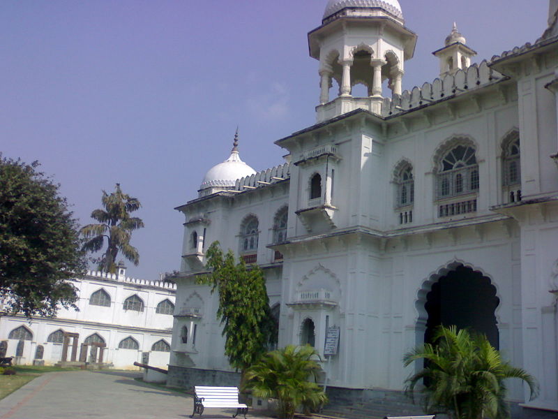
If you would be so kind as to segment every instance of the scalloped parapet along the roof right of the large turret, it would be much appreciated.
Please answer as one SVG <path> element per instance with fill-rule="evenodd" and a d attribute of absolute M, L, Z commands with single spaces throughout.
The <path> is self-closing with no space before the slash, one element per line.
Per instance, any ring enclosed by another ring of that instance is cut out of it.
<path fill-rule="evenodd" d="M 401 112 L 430 105 L 451 96 L 458 96 L 506 77 L 490 68 L 489 64 L 484 60 L 479 65 L 472 64 L 455 74 L 448 74 L 442 79 L 437 78 L 432 83 L 424 83 L 422 87 L 414 87 L 410 91 L 403 91 L 401 95 L 393 95 L 391 99 L 384 98 L 382 117 L 398 115 Z"/>

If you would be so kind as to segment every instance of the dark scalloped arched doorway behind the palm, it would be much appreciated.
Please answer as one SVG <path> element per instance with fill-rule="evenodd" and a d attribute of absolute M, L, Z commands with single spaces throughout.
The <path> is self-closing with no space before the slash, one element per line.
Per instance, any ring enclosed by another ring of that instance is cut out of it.
<path fill-rule="evenodd" d="M 469 328 L 483 333 L 498 349 L 495 310 L 499 298 L 490 278 L 462 264 L 445 271 L 425 295 L 423 307 L 427 318 L 424 341 L 431 343 L 437 326 L 456 325 L 458 329 Z"/>

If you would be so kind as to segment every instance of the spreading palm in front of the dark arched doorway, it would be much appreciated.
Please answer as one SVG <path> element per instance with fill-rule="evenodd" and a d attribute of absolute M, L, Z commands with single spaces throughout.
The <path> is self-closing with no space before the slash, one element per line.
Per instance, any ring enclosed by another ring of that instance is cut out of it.
<path fill-rule="evenodd" d="M 421 389 L 427 413 L 446 413 L 452 419 L 509 418 L 504 399 L 506 378 L 525 381 L 530 399 L 536 397 L 535 378 L 502 360 L 485 335 L 440 326 L 434 341 L 435 345 L 418 346 L 404 357 L 405 367 L 415 360 L 426 361 L 425 367 L 405 383 L 407 394 L 412 397 L 416 385 L 423 379 L 428 381 Z"/>

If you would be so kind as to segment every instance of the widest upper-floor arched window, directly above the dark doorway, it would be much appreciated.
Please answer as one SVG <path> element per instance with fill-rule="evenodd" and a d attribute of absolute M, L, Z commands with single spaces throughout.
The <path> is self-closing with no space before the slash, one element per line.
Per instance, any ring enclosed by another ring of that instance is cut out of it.
<path fill-rule="evenodd" d="M 475 193 L 478 184 L 478 164 L 473 147 L 458 145 L 444 154 L 437 173 L 437 198 Z"/>

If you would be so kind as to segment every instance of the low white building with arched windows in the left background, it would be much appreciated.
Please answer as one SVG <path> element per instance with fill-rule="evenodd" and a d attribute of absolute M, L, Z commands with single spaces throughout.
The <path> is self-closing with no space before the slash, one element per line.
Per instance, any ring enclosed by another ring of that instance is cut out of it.
<path fill-rule="evenodd" d="M 126 277 L 123 267 L 119 274 L 89 271 L 72 284 L 80 311 L 60 309 L 55 318 L 31 322 L 23 316 L 0 318 L 1 356 L 13 356 L 21 365 L 54 365 L 63 359 L 66 333 L 71 335 L 67 361 L 103 362 L 119 369 L 137 369 L 133 363 L 144 362 L 167 368 L 176 284 Z M 88 346 L 82 349 L 83 344 Z"/>

